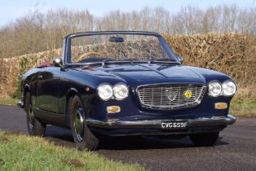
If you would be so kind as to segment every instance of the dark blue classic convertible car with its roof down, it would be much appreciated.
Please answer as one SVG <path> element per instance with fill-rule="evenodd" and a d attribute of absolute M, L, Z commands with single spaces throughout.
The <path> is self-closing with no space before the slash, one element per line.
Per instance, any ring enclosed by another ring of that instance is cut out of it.
<path fill-rule="evenodd" d="M 189 136 L 213 146 L 236 121 L 228 115 L 236 83 L 182 63 L 158 33 L 73 33 L 61 58 L 24 73 L 18 105 L 29 134 L 69 128 L 78 149 L 95 150 L 103 136 Z"/>

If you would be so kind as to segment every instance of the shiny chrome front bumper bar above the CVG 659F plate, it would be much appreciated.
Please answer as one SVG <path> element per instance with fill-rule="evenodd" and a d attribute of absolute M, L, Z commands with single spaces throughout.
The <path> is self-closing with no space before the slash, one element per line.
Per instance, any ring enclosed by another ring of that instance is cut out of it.
<path fill-rule="evenodd" d="M 210 126 L 226 126 L 232 125 L 236 122 L 236 118 L 231 115 L 227 116 L 212 116 L 212 117 L 201 117 L 196 119 L 183 119 L 183 120 L 165 120 L 165 121 L 188 121 L 188 129 L 195 127 L 210 127 Z M 104 129 L 129 129 L 129 128 L 145 128 L 145 129 L 161 129 L 162 120 L 153 121 L 119 121 L 119 120 L 108 120 L 98 121 L 88 118 L 86 120 L 87 125 L 96 128 Z"/>

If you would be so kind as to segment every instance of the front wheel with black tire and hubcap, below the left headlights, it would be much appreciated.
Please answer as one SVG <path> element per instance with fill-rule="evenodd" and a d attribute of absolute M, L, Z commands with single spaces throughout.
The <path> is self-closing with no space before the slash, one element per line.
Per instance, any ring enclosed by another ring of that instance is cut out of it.
<path fill-rule="evenodd" d="M 70 110 L 71 129 L 74 142 L 78 150 L 95 151 L 99 146 L 99 138 L 93 134 L 86 125 L 85 110 L 82 107 L 81 99 L 75 95 L 72 99 Z"/>

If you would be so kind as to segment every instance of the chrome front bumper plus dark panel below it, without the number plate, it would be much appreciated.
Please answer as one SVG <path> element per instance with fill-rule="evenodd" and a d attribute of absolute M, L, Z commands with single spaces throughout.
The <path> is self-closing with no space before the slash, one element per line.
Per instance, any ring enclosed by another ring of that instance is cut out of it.
<path fill-rule="evenodd" d="M 195 119 L 177 119 L 166 121 L 188 121 L 187 129 L 161 129 L 162 120 L 153 121 L 97 121 L 88 118 L 86 120 L 90 129 L 100 134 L 108 135 L 161 135 L 161 134 L 195 134 L 205 132 L 217 132 L 227 125 L 236 122 L 236 118 L 231 115 L 201 117 Z"/>

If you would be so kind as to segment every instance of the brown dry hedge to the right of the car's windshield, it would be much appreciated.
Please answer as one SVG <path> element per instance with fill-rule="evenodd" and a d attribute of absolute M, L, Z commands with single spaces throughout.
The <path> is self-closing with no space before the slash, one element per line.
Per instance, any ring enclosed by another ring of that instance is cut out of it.
<path fill-rule="evenodd" d="M 251 85 L 256 78 L 256 37 L 241 34 L 209 33 L 194 36 L 168 36 L 184 64 L 226 73 L 239 85 Z"/>

